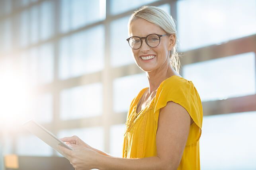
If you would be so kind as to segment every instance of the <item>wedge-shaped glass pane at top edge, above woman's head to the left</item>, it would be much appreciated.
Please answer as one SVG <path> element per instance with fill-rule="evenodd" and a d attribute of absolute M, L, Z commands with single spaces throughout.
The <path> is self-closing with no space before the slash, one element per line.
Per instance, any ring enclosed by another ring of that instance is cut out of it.
<path fill-rule="evenodd" d="M 156 1 L 157 0 L 110 0 L 110 11 L 112 15 L 115 15 Z"/>

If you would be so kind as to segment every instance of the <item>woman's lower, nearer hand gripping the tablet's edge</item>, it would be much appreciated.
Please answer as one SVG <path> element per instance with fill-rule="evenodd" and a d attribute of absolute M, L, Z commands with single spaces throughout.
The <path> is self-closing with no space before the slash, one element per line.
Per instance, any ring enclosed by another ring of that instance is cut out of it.
<path fill-rule="evenodd" d="M 63 151 L 66 158 L 75 170 L 90 170 L 96 168 L 101 155 L 92 149 L 88 149 L 82 145 L 68 144 L 73 151 L 59 145 L 59 149 Z"/>

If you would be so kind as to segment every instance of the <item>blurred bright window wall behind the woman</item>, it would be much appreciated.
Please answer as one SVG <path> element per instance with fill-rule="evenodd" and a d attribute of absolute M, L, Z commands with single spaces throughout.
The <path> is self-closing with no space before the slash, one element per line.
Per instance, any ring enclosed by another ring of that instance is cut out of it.
<path fill-rule="evenodd" d="M 4 155 L 59 156 L 20 127 L 31 118 L 121 157 L 148 86 L 127 22 L 146 4 L 177 21 L 181 75 L 203 103 L 201 169 L 256 169 L 255 0 L 0 0 L 0 169 Z"/>

